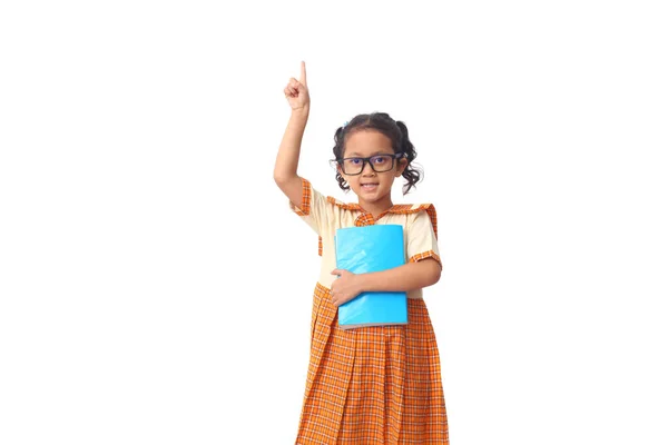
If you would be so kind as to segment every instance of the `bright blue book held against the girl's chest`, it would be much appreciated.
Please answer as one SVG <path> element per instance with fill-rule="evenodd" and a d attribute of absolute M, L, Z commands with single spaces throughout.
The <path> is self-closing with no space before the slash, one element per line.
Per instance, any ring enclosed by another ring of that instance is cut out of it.
<path fill-rule="evenodd" d="M 379 224 L 336 229 L 336 268 L 366 274 L 405 264 L 403 226 Z M 405 291 L 367 291 L 338 307 L 338 326 L 405 325 Z"/>

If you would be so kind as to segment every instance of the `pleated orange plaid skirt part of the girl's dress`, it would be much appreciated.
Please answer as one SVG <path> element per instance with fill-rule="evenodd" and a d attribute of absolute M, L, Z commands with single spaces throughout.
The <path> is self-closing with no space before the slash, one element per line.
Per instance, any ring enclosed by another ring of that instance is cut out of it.
<path fill-rule="evenodd" d="M 296 444 L 449 444 L 433 327 L 423 299 L 407 308 L 405 326 L 341 329 L 316 285 Z"/>

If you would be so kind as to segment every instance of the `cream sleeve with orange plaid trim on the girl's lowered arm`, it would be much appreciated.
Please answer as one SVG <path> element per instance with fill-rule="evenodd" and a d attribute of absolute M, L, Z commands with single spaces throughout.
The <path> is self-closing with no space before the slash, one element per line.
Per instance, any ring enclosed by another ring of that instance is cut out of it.
<path fill-rule="evenodd" d="M 433 258 L 443 267 L 436 235 L 436 209 L 433 205 L 425 205 L 415 214 L 415 218 L 407 228 L 406 254 L 409 263 Z"/>

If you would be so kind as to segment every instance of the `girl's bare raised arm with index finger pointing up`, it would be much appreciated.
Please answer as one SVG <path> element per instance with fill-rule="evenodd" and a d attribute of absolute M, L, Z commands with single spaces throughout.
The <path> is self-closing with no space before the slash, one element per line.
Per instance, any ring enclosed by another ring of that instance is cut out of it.
<path fill-rule="evenodd" d="M 291 78 L 284 92 L 292 108 L 292 113 L 276 156 L 274 180 L 293 204 L 299 205 L 302 202 L 302 178 L 297 175 L 297 166 L 299 164 L 302 138 L 311 108 L 306 83 L 306 65 L 304 62 L 302 62 L 299 80 L 294 77 Z"/>

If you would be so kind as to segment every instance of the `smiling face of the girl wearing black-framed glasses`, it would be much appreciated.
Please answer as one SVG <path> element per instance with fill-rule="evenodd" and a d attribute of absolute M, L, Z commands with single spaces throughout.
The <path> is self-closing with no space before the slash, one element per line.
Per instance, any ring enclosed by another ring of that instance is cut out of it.
<path fill-rule="evenodd" d="M 407 164 L 406 159 L 403 158 L 392 160 L 389 157 L 376 157 L 377 155 L 395 155 L 392 149 L 392 141 L 382 132 L 358 130 L 347 137 L 343 158 L 353 159 L 344 160 L 344 166 L 340 165 L 338 171 L 360 198 L 360 204 L 391 204 L 392 184 L 395 178 L 402 175 Z M 361 158 L 372 159 L 364 161 Z M 374 162 L 376 170 L 390 169 L 386 171 L 374 171 L 371 162 Z M 361 174 L 350 175 L 351 172 L 355 172 L 355 168 L 358 169 L 362 164 L 364 164 L 364 169 Z"/>

